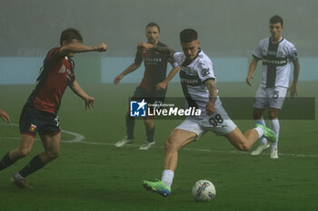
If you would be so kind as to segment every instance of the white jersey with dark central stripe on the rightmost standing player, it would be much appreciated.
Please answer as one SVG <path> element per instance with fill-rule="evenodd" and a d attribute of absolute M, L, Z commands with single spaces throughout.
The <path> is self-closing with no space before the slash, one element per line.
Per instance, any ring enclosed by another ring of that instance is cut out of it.
<path fill-rule="evenodd" d="M 269 37 L 265 38 L 257 44 L 253 57 L 263 60 L 263 87 L 288 87 L 291 62 L 297 58 L 297 50 L 293 43 L 283 37 L 279 43 L 271 43 Z"/>

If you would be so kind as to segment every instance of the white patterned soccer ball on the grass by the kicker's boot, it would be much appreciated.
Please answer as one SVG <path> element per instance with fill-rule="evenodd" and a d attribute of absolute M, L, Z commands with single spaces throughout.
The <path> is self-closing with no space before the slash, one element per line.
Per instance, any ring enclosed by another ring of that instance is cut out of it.
<path fill-rule="evenodd" d="M 214 184 L 205 179 L 197 181 L 192 187 L 192 196 L 198 202 L 209 202 L 214 199 L 215 194 Z"/>

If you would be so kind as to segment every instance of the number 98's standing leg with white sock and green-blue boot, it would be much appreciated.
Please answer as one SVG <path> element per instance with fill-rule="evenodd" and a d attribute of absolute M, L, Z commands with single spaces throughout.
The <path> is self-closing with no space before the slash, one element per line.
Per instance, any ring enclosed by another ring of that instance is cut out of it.
<path fill-rule="evenodd" d="M 161 181 L 143 181 L 143 186 L 149 191 L 168 197 L 174 180 L 174 170 L 178 163 L 178 150 L 194 141 L 196 134 L 184 129 L 174 129 L 165 142 L 164 172 Z"/>

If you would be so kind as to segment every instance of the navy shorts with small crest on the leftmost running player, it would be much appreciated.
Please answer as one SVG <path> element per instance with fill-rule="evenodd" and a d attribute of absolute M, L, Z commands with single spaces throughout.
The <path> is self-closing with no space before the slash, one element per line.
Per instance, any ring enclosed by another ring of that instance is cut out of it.
<path fill-rule="evenodd" d="M 40 135 L 55 135 L 61 131 L 60 122 L 56 114 L 35 109 L 34 106 L 25 104 L 19 122 L 20 134 L 35 137 Z"/>

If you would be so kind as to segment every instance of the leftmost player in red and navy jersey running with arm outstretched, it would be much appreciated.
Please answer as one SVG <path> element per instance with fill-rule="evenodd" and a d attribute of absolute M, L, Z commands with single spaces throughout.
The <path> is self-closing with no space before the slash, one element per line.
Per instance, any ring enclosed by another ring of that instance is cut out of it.
<path fill-rule="evenodd" d="M 94 98 L 85 93 L 75 81 L 75 63 L 71 59 L 75 53 L 105 52 L 104 43 L 98 46 L 83 44 L 82 35 L 69 28 L 62 32 L 60 47 L 51 49 L 41 68 L 35 90 L 32 91 L 20 116 L 20 142 L 16 149 L 5 154 L 0 160 L 0 170 L 24 158 L 31 151 L 35 135 L 39 132 L 45 151 L 36 155 L 26 166 L 11 177 L 11 181 L 19 187 L 32 188 L 25 177 L 45 164 L 57 158 L 60 151 L 60 124 L 57 117 L 62 96 L 67 86 L 84 100 L 85 109 L 94 107 Z"/>

